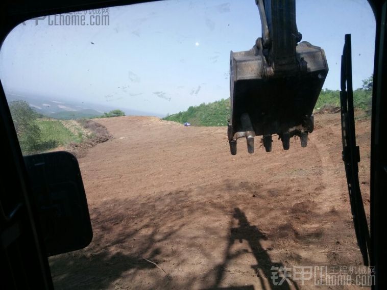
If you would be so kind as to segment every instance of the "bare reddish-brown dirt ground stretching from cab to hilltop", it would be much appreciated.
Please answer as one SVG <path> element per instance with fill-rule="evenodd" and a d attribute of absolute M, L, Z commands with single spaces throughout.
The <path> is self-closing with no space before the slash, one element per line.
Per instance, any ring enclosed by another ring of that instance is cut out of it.
<path fill-rule="evenodd" d="M 235 156 L 225 127 L 98 119 L 113 138 L 79 160 L 94 237 L 50 258 L 56 288 L 360 288 L 271 279 L 273 266 L 361 265 L 340 114 L 315 118 L 306 148 L 295 139 L 284 151 L 275 140 L 266 153 L 256 138 L 254 154 L 240 140 Z M 368 213 L 369 120 L 356 129 Z"/>

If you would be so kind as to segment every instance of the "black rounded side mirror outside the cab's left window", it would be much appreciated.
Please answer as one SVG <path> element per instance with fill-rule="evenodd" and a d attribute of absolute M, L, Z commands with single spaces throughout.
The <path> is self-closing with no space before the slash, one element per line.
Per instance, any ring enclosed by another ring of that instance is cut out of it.
<path fill-rule="evenodd" d="M 76 157 L 56 151 L 24 159 L 47 255 L 85 248 L 93 233 Z"/>

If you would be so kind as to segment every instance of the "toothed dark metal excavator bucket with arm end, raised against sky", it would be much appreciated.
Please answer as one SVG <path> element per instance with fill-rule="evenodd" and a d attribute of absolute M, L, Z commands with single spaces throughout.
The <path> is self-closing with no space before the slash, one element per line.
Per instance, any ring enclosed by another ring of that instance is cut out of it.
<path fill-rule="evenodd" d="M 233 155 L 239 138 L 246 138 L 253 153 L 255 136 L 262 136 L 267 152 L 272 149 L 272 135 L 278 135 L 285 150 L 293 136 L 299 136 L 305 147 L 313 131 L 313 108 L 328 73 L 324 50 L 306 41 L 298 43 L 302 36 L 294 0 L 256 3 L 262 38 L 252 49 L 231 51 L 230 56 L 228 139 Z"/>

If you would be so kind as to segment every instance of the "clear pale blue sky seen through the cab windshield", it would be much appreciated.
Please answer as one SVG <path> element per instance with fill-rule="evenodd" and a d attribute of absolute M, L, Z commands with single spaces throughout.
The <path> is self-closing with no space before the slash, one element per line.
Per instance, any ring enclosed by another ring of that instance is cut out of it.
<path fill-rule="evenodd" d="M 325 50 L 324 88 L 340 87 L 344 35 L 352 34 L 353 84 L 360 87 L 373 71 L 367 1 L 297 0 L 296 13 L 302 40 Z M 114 7 L 105 26 L 29 20 L 3 43 L 0 78 L 6 93 L 171 114 L 228 98 L 230 50 L 248 50 L 260 36 L 254 0 Z"/>

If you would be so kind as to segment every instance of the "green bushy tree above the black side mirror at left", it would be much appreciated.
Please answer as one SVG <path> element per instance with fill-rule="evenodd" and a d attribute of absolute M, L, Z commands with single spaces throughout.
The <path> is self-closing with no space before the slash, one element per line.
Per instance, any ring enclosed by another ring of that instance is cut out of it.
<path fill-rule="evenodd" d="M 40 129 L 36 124 L 38 114 L 30 107 L 28 102 L 15 100 L 10 103 L 13 124 L 23 154 L 34 153 L 40 145 Z"/>

